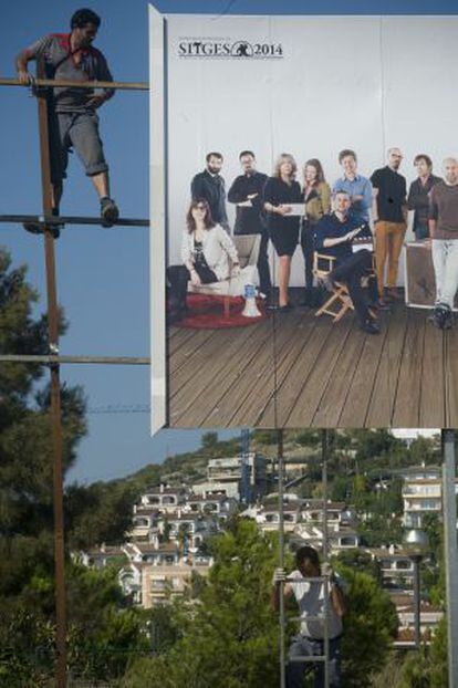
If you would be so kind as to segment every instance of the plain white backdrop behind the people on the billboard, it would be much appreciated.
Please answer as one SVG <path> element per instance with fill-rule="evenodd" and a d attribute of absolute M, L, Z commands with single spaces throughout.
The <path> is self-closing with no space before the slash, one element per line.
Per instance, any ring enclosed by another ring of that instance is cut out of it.
<path fill-rule="evenodd" d="M 402 148 L 408 184 L 417 153 L 440 175 L 458 148 L 457 29 L 458 17 L 167 17 L 168 263 L 180 262 L 190 180 L 209 150 L 225 156 L 227 189 L 244 148 L 269 175 L 280 153 L 300 168 L 318 157 L 331 185 L 342 148 L 356 150 L 364 176 L 389 146 Z M 181 56 L 180 43 L 196 41 L 281 44 L 283 56 Z M 232 225 L 231 204 L 228 213 Z M 299 249 L 291 283 L 303 284 Z"/>

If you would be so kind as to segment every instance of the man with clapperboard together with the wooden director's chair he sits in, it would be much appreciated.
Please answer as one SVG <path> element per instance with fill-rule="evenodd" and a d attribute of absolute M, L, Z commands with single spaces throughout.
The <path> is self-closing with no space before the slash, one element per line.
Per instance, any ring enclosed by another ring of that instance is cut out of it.
<path fill-rule="evenodd" d="M 324 278 L 326 286 L 333 292 L 316 315 L 324 312 L 340 320 L 348 307 L 354 307 L 361 330 L 378 334 L 377 310 L 381 306 L 373 265 L 372 233 L 367 223 L 362 225 L 352 218 L 350 207 L 350 195 L 336 190 L 333 212 L 325 215 L 315 228 L 315 274 Z M 331 311 L 332 304 L 340 304 L 342 310 L 337 313 Z"/>

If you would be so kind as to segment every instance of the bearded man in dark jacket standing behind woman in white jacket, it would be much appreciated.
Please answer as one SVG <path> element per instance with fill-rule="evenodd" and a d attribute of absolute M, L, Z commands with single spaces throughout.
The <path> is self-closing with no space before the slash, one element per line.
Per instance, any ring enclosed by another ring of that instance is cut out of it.
<path fill-rule="evenodd" d="M 230 227 L 226 212 L 225 180 L 219 174 L 222 167 L 222 155 L 211 152 L 206 156 L 207 167 L 198 173 L 191 181 L 191 199 L 206 200 L 210 206 L 211 217 L 217 225 L 221 225 L 228 233 Z"/>

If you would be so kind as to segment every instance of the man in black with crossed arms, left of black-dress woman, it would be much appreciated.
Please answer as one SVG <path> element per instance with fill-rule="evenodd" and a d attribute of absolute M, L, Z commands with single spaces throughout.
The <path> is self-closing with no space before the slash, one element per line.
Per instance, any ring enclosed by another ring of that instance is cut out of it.
<path fill-rule="evenodd" d="M 229 202 L 237 206 L 233 233 L 261 234 L 258 258 L 259 289 L 262 296 L 269 298 L 272 289 L 267 253 L 269 236 L 262 209 L 262 190 L 268 177 L 256 169 L 252 150 L 242 150 L 239 159 L 243 174 L 233 180 L 228 192 Z"/>

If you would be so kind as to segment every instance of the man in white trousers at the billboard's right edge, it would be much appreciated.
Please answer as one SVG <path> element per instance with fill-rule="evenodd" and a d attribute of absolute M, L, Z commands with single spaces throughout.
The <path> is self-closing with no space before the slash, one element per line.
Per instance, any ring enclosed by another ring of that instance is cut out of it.
<path fill-rule="evenodd" d="M 430 191 L 429 232 L 436 275 L 434 323 L 441 330 L 452 325 L 452 307 L 458 290 L 458 160 L 443 163 L 444 181 Z"/>

